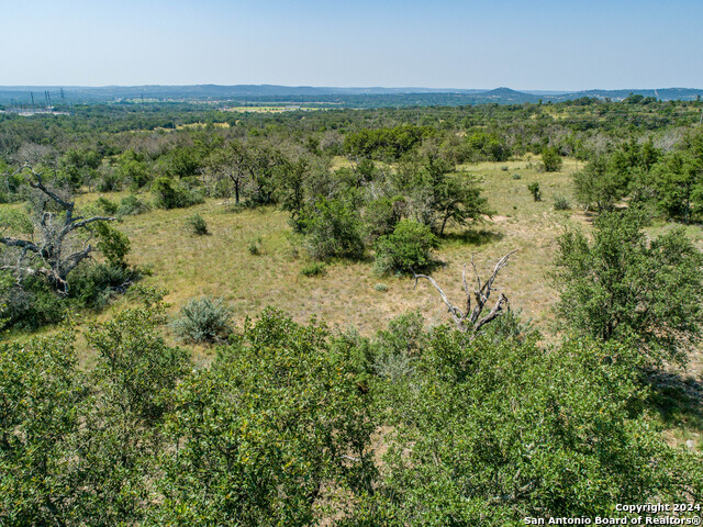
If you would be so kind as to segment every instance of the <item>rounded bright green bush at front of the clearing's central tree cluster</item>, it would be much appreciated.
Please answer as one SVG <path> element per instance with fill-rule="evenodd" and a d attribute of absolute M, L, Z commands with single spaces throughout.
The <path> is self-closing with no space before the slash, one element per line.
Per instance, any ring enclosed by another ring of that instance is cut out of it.
<path fill-rule="evenodd" d="M 429 254 L 437 248 L 437 237 L 427 225 L 402 220 L 392 234 L 380 236 L 375 244 L 373 267 L 379 273 L 410 272 L 410 268 L 427 268 Z"/>

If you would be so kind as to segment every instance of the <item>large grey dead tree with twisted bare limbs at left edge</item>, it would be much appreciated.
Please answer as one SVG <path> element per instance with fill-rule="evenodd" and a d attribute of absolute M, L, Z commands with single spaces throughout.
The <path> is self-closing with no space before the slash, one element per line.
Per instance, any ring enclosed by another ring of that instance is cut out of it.
<path fill-rule="evenodd" d="M 82 217 L 75 214 L 76 203 L 67 198 L 62 198 L 56 190 L 44 182 L 46 172 L 36 172 L 30 166 L 24 166 L 20 171 L 29 171 L 29 186 L 41 192 L 42 200 L 37 210 L 40 240 L 22 239 L 12 236 L 0 236 L 0 244 L 8 247 L 18 247 L 20 257 L 15 265 L 0 266 L 0 270 L 10 270 L 15 273 L 18 281 L 24 276 L 43 276 L 52 288 L 62 296 L 68 294 L 68 273 L 81 261 L 90 257 L 92 246 L 90 237 L 78 250 L 74 250 L 68 240 L 68 235 L 75 231 L 88 229 L 88 225 L 94 222 L 112 222 L 114 217 L 92 216 Z M 53 203 L 58 212 L 51 212 L 47 205 Z M 29 261 L 27 261 L 29 259 Z"/>

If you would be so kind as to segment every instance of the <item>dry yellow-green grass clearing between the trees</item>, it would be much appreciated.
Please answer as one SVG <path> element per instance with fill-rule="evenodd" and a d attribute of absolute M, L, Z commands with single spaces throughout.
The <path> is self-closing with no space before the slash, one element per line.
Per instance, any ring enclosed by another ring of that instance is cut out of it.
<path fill-rule="evenodd" d="M 346 162 L 338 158 L 334 166 Z M 464 295 L 465 264 L 473 257 L 483 276 L 500 257 L 517 249 L 496 285 L 513 309 L 522 310 L 524 317 L 549 330 L 554 319 L 550 309 L 557 298 L 548 279 L 556 238 L 567 228 L 590 228 L 592 218 L 573 202 L 571 173 L 580 168 L 576 160 L 567 159 L 559 172 L 540 172 L 537 165 L 536 159 L 525 158 L 461 167 L 480 178 L 495 214 L 469 228 L 449 229 L 436 253 L 442 265 L 433 277 L 458 302 Z M 539 182 L 543 201 L 535 202 L 527 190 L 532 182 Z M 566 197 L 571 209 L 556 211 L 557 195 Z M 115 194 L 109 198 L 114 199 Z M 79 203 L 94 199 L 96 194 L 83 194 Z M 205 218 L 210 235 L 188 234 L 186 218 L 194 213 Z M 366 335 L 384 328 L 391 318 L 408 311 L 420 311 L 429 325 L 449 321 L 427 282 L 420 282 L 414 289 L 409 277 L 379 277 L 371 269 L 370 258 L 332 262 L 325 274 L 304 277 L 301 269 L 310 260 L 292 235 L 288 218 L 288 213 L 274 208 L 232 212 L 222 201 L 208 200 L 187 210 L 153 210 L 130 216 L 119 227 L 132 240 L 131 261 L 153 270 L 145 283 L 169 291 L 166 300 L 172 315 L 192 298 L 213 295 L 227 302 L 236 323 L 257 316 L 266 306 L 278 307 L 299 322 L 316 316 L 333 328 L 355 326 Z M 671 226 L 658 224 L 650 231 L 652 235 L 660 234 Z M 703 248 L 700 227 L 689 227 L 688 233 Z M 253 255 L 248 247 L 256 240 L 260 240 L 260 250 Z M 119 301 L 99 318 L 107 318 L 124 303 L 125 300 Z M 175 344 L 172 335 L 168 339 Z M 78 346 L 82 347 L 80 343 Z M 90 362 L 91 352 L 85 348 L 80 351 Z M 213 352 L 209 347 L 196 348 L 200 360 L 209 360 Z M 671 372 L 678 388 L 660 396 L 660 422 L 671 444 L 693 439 L 696 448 L 703 449 L 702 365 L 701 354 L 694 354 L 687 371 Z"/>

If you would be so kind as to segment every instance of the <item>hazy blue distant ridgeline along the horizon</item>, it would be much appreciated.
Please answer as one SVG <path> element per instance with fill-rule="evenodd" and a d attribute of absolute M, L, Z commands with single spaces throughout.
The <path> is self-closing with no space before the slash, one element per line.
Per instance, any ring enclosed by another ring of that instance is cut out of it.
<path fill-rule="evenodd" d="M 429 88 L 324 88 L 271 85 L 237 86 L 108 86 L 0 87 L 0 106 L 13 113 L 53 112 L 58 106 L 92 103 L 232 102 L 242 105 L 298 104 L 317 108 L 382 108 L 466 104 L 522 104 L 563 102 L 582 98 L 622 101 L 631 94 L 652 100 L 693 101 L 703 96 L 694 88 L 587 90 L 576 92 L 531 91 L 510 88 L 458 90 Z"/>

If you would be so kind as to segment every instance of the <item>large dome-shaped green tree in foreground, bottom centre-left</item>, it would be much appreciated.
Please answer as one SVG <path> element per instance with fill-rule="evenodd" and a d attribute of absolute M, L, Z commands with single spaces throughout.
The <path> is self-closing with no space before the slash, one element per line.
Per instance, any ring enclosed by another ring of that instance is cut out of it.
<path fill-rule="evenodd" d="M 369 490 L 367 396 L 327 341 L 267 310 L 179 384 L 155 523 L 311 525 L 337 492 Z"/>

